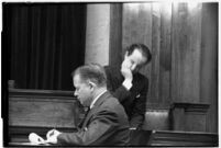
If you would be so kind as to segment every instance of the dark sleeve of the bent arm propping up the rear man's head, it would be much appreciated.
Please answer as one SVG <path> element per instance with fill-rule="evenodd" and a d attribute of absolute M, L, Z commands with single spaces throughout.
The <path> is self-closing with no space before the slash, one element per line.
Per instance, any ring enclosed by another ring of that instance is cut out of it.
<path fill-rule="evenodd" d="M 115 81 L 112 79 L 112 76 L 115 73 L 113 73 L 114 71 L 112 71 L 111 68 L 104 67 L 104 69 L 107 75 L 107 87 L 108 87 L 108 90 L 111 92 L 111 94 L 114 98 L 117 98 L 120 102 L 129 98 L 131 95 L 131 92 L 128 91 L 125 87 L 123 87 L 122 84 L 115 90 L 113 90 L 113 86 Z"/>

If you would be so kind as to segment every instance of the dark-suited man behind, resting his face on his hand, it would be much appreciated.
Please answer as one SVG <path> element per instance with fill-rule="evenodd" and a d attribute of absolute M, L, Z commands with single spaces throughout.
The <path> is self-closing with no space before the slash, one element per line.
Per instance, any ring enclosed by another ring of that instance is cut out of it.
<path fill-rule="evenodd" d="M 152 55 L 147 46 L 132 44 L 126 48 L 121 69 L 113 66 L 104 67 L 108 90 L 124 106 L 131 129 L 140 128 L 144 121 L 148 79 L 139 70 L 151 59 Z"/>

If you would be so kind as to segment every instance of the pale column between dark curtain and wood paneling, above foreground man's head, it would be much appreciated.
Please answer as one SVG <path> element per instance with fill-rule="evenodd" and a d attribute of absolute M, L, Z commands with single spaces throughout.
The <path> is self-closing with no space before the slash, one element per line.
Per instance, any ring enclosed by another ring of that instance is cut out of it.
<path fill-rule="evenodd" d="M 85 62 L 109 64 L 110 4 L 87 5 Z"/>

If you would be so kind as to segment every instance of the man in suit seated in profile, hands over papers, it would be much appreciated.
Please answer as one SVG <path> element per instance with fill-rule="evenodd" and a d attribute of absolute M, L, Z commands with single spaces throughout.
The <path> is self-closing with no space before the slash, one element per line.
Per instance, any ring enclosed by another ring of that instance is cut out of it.
<path fill-rule="evenodd" d="M 76 133 L 47 133 L 47 143 L 76 146 L 126 146 L 129 122 L 118 99 L 107 91 L 107 76 L 99 65 L 86 65 L 73 72 L 75 95 L 89 112 Z"/>

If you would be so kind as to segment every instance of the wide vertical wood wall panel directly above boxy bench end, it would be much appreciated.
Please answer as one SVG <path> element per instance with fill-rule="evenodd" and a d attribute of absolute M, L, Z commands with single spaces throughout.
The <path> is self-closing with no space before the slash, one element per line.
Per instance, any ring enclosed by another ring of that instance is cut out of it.
<path fill-rule="evenodd" d="M 201 4 L 192 10 L 187 3 L 173 8 L 173 99 L 199 102 Z"/>

